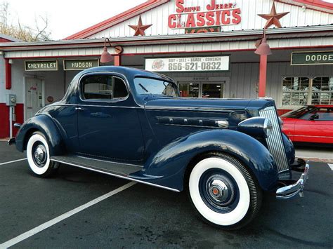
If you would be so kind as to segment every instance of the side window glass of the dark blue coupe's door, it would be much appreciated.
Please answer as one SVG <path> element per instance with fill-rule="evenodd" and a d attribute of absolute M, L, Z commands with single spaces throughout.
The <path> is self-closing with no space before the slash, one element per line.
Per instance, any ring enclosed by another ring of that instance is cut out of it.
<path fill-rule="evenodd" d="M 117 76 L 102 74 L 86 76 L 81 83 L 84 100 L 112 100 L 128 95 L 126 85 Z"/>

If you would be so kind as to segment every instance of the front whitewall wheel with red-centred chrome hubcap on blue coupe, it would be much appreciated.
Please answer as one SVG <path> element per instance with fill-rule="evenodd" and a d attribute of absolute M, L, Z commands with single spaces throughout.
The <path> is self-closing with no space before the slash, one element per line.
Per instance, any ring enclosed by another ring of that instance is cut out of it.
<path fill-rule="evenodd" d="M 222 229 L 240 229 L 261 206 L 262 191 L 233 156 L 211 153 L 199 161 L 188 180 L 190 201 L 200 217 Z"/>

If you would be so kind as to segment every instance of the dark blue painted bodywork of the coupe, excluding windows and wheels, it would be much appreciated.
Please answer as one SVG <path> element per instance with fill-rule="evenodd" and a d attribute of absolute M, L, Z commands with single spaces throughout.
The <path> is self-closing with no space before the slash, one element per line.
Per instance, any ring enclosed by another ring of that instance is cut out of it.
<path fill-rule="evenodd" d="M 79 82 L 87 74 L 116 74 L 128 84 L 129 97 L 117 102 L 81 100 Z M 96 67 L 74 77 L 63 100 L 41 109 L 26 121 L 16 137 L 21 152 L 32 130 L 48 138 L 51 155 L 90 154 L 111 161 L 136 163 L 143 170 L 130 177 L 183 189 L 186 166 L 198 154 L 226 152 L 252 170 L 264 190 L 272 190 L 278 171 L 266 143 L 237 131 L 240 121 L 259 116 L 259 110 L 274 106 L 272 100 L 220 100 L 137 95 L 133 79 L 147 77 L 172 81 L 161 74 L 127 67 Z M 77 110 L 80 107 L 82 110 Z M 229 129 L 168 126 L 157 116 L 226 119 Z M 289 161 L 294 148 L 284 136 Z"/>

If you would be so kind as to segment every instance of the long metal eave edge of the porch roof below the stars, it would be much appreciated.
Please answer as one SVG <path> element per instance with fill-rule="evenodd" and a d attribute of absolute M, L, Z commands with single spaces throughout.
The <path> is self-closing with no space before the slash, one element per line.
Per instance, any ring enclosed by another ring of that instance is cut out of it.
<path fill-rule="evenodd" d="M 251 29 L 229 32 L 214 33 L 197 33 L 197 34 L 170 34 L 158 36 L 125 36 L 111 37 L 112 43 L 122 46 L 145 45 L 145 44 L 162 44 L 162 43 L 196 43 L 211 41 L 240 41 L 255 40 L 261 37 L 263 29 Z M 280 29 L 267 29 L 266 34 L 269 39 L 281 39 L 292 37 L 311 37 L 311 36 L 333 36 L 333 24 L 318 25 L 306 27 L 282 27 Z M 59 40 L 59 41 L 35 41 L 35 42 L 12 42 L 0 43 L 2 51 L 22 51 L 34 49 L 49 48 L 84 48 L 98 47 L 102 39 L 76 39 L 76 40 Z"/>

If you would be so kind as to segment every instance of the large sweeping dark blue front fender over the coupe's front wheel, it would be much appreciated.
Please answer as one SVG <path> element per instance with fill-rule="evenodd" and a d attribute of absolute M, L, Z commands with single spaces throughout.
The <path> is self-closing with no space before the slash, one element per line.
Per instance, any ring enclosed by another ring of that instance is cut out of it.
<path fill-rule="evenodd" d="M 186 167 L 195 156 L 205 152 L 235 156 L 254 173 L 263 190 L 273 189 L 278 181 L 278 169 L 268 149 L 235 130 L 203 130 L 171 142 L 148 159 L 144 170 L 130 176 L 182 191 Z"/>

